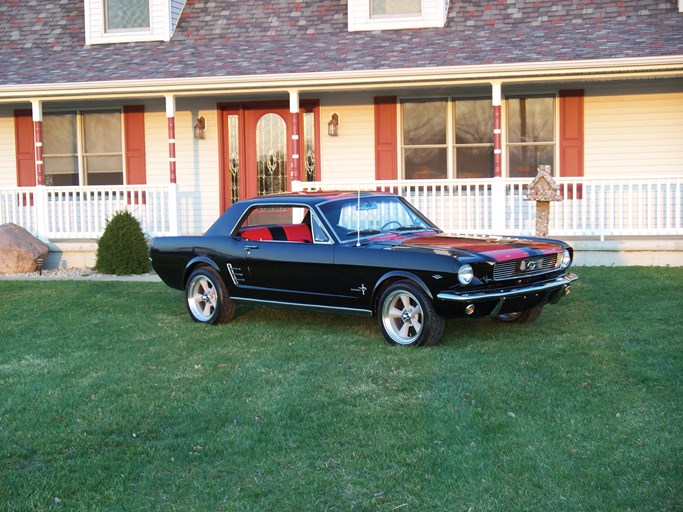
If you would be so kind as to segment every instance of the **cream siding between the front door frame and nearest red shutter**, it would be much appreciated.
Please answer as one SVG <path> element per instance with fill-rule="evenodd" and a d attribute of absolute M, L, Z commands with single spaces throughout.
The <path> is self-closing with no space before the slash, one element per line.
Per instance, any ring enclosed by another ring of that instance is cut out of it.
<path fill-rule="evenodd" d="M 332 113 L 339 114 L 339 136 L 327 135 Z M 320 148 L 323 180 L 375 177 L 375 110 L 371 93 L 330 95 L 321 99 Z"/>

